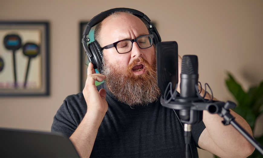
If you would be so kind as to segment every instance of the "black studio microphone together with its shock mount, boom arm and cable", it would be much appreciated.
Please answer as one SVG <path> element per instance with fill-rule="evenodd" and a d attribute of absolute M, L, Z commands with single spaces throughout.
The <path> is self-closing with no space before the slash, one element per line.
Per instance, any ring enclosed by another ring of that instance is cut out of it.
<path fill-rule="evenodd" d="M 185 153 L 186 158 L 189 156 L 189 147 L 191 150 L 191 126 L 196 124 L 203 119 L 203 110 L 207 110 L 211 114 L 218 114 L 224 120 L 223 125 L 233 125 L 240 134 L 242 134 L 261 154 L 263 154 L 263 148 L 261 145 L 253 139 L 237 122 L 235 117 L 230 114 L 229 109 L 234 109 L 236 104 L 231 101 L 221 102 L 213 101 L 212 99 L 204 99 L 206 96 L 206 90 L 203 97 L 200 96 L 198 91 L 198 59 L 196 55 L 185 55 L 182 59 L 181 67 L 181 83 L 180 83 L 180 96 L 171 96 L 170 99 L 164 96 L 161 97 L 160 102 L 162 106 L 179 110 L 180 122 L 184 123 L 184 141 L 185 141 Z M 169 85 L 172 83 L 169 83 Z M 208 84 L 207 84 L 208 85 Z M 200 85 L 201 86 L 201 85 Z M 202 90 L 202 87 L 200 87 Z M 167 86 L 169 89 L 169 86 Z M 171 91 L 172 88 L 170 86 Z M 166 94 L 166 92 L 165 92 Z M 171 94 L 171 93 L 170 93 Z M 171 99 L 172 98 L 172 99 Z M 179 118 L 178 118 L 179 119 Z"/>

